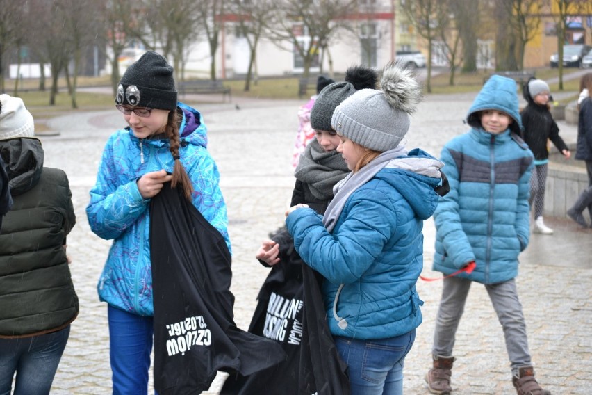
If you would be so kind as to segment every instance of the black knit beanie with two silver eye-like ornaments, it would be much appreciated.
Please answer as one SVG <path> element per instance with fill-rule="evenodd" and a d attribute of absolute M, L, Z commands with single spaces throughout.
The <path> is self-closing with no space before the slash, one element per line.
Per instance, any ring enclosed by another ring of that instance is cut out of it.
<path fill-rule="evenodd" d="M 147 51 L 122 76 L 115 104 L 172 111 L 176 98 L 172 66 L 161 54 Z"/>

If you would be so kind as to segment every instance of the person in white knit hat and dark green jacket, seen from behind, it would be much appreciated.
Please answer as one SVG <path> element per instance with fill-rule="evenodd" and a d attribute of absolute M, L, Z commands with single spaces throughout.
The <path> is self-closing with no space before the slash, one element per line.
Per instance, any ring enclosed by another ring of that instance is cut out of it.
<path fill-rule="evenodd" d="M 43 166 L 33 116 L 0 95 L 0 156 L 13 208 L 0 232 L 0 394 L 49 394 L 79 302 L 66 236 L 76 223 L 63 170 Z M 16 373 L 16 377 L 15 377 Z"/>

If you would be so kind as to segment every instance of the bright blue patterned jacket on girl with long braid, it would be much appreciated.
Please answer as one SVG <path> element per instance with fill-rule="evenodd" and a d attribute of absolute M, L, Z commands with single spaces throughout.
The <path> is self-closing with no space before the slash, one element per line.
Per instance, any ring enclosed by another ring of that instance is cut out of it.
<path fill-rule="evenodd" d="M 183 111 L 179 155 L 193 186 L 193 205 L 221 234 L 230 250 L 227 210 L 218 185 L 220 174 L 206 150 L 202 115 L 179 103 Z M 86 208 L 92 232 L 113 239 L 97 286 L 102 301 L 126 312 L 152 316 L 149 202 L 136 181 L 157 170 L 172 172 L 168 138 L 139 139 L 131 129 L 110 136 L 101 158 L 97 184 Z"/>

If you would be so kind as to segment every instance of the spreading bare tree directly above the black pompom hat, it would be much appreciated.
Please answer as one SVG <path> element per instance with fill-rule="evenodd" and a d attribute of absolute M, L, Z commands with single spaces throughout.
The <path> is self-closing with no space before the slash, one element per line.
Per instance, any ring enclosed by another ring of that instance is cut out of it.
<path fill-rule="evenodd" d="M 281 46 L 289 42 L 302 59 L 303 76 L 310 74 L 320 49 L 348 26 L 346 16 L 356 12 L 355 0 L 281 0 L 270 18 L 270 35 Z"/>

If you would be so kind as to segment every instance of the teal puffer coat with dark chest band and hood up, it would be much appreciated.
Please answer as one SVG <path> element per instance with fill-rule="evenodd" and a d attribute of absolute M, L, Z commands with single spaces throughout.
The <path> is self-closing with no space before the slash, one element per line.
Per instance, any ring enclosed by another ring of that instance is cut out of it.
<path fill-rule="evenodd" d="M 520 129 L 516 83 L 511 79 L 493 82 L 484 86 L 469 110 L 472 130 L 453 138 L 442 150 L 450 193 L 440 198 L 434 213 L 434 270 L 447 275 L 475 261 L 471 274 L 458 276 L 485 284 L 518 275 L 518 254 L 529 241 L 529 179 L 534 159 L 513 132 Z M 508 130 L 490 134 L 482 129 L 478 112 L 488 108 L 513 118 Z"/>

